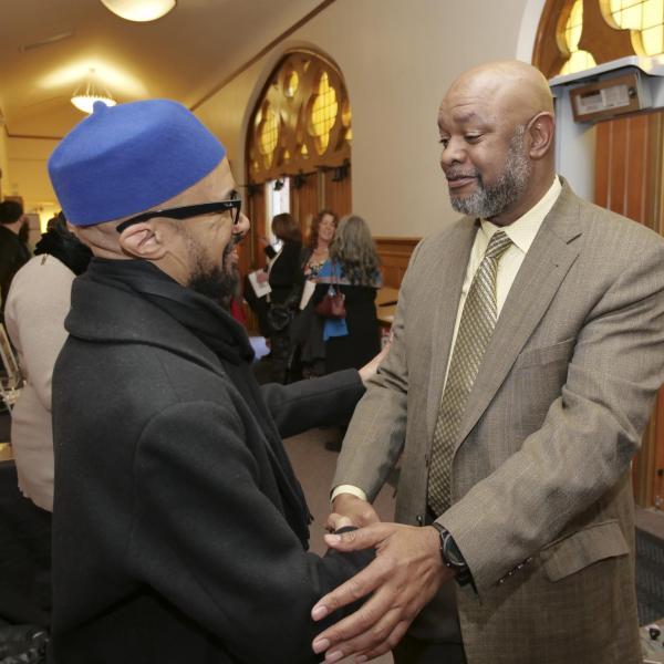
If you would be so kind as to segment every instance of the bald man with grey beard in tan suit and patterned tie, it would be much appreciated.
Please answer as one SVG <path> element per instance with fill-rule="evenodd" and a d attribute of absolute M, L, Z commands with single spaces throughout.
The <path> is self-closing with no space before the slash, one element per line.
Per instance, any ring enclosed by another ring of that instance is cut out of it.
<path fill-rule="evenodd" d="M 372 595 L 313 647 L 365 661 L 409 629 L 398 664 L 637 664 L 630 463 L 664 378 L 664 240 L 556 175 L 533 68 L 463 74 L 438 124 L 466 216 L 414 252 L 344 440 L 333 507 L 365 527 L 329 543 L 377 556 L 313 615 Z M 377 523 L 401 455 L 400 523 Z"/>

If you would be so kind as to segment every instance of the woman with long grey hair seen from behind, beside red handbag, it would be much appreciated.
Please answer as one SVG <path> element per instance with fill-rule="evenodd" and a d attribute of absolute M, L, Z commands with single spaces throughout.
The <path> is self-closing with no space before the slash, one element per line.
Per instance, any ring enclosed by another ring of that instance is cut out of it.
<path fill-rule="evenodd" d="M 330 286 L 345 297 L 345 318 L 325 319 L 325 373 L 359 369 L 381 350 L 376 291 L 382 286 L 380 259 L 366 221 L 344 217 L 330 246 L 330 260 L 319 271 L 312 298 L 320 302 Z"/>

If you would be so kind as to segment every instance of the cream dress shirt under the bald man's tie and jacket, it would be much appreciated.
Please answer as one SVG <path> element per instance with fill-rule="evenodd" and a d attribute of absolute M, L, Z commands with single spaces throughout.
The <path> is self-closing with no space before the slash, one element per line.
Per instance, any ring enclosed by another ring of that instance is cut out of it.
<path fill-rule="evenodd" d="M 517 277 L 517 272 L 519 271 L 519 268 L 526 258 L 526 253 L 528 252 L 528 249 L 530 249 L 530 245 L 532 245 L 532 240 L 535 240 L 535 236 L 538 234 L 544 217 L 549 214 L 558 200 L 558 196 L 560 195 L 561 190 L 562 186 L 560 180 L 558 177 L 554 177 L 553 184 L 539 199 L 539 201 L 525 215 L 519 217 L 516 221 L 512 221 L 509 226 L 496 226 L 495 224 L 486 221 L 485 219 L 481 220 L 480 228 L 475 236 L 473 249 L 470 250 L 470 258 L 468 260 L 468 267 L 466 268 L 466 277 L 461 287 L 461 297 L 459 299 L 459 307 L 457 309 L 454 334 L 452 338 L 453 349 L 454 344 L 456 343 L 457 332 L 461 321 L 461 313 L 464 311 L 464 304 L 466 303 L 468 291 L 470 290 L 470 284 L 473 283 L 475 272 L 477 272 L 479 263 L 484 259 L 489 240 L 494 234 L 502 230 L 512 241 L 509 249 L 507 249 L 507 251 L 500 257 L 500 260 L 498 261 L 498 271 L 496 273 L 496 313 L 498 317 L 500 317 L 500 312 L 502 311 L 502 305 L 507 300 L 509 289 L 511 288 Z M 449 353 L 449 357 L 447 360 L 444 386 L 447 383 L 447 373 L 449 371 L 452 355 L 453 353 Z M 352 494 L 353 496 L 362 498 L 362 500 L 366 500 L 366 494 L 359 487 L 352 485 L 340 485 L 335 487 L 332 491 L 331 500 L 334 500 L 334 498 L 336 498 L 336 496 L 340 494 Z"/>

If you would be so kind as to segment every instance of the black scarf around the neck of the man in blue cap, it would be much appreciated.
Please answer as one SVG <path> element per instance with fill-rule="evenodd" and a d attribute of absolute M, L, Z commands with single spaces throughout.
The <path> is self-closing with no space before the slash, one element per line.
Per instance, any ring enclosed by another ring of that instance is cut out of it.
<path fill-rule="evenodd" d="M 247 331 L 227 311 L 209 298 L 177 283 L 144 260 L 95 258 L 87 279 L 112 282 L 141 293 L 197 336 L 219 357 L 232 384 L 261 425 L 271 452 L 270 459 L 279 483 L 284 516 L 302 546 L 309 547 L 311 516 L 300 483 L 290 465 L 277 426 L 253 377 L 250 363 L 253 350 Z"/>

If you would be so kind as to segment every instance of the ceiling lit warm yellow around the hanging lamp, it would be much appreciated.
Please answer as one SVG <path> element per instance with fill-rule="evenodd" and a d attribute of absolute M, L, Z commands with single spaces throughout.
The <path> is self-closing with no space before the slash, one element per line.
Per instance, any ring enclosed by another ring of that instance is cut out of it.
<path fill-rule="evenodd" d="M 321 0 L 177 0 L 133 23 L 98 0 L 0 0 L 0 110 L 10 136 L 62 136 L 84 115 L 70 103 L 95 68 L 118 102 L 193 106 Z"/>

